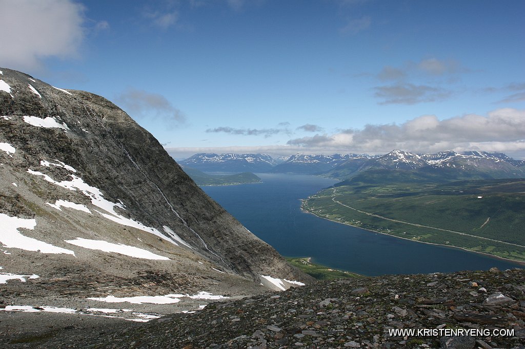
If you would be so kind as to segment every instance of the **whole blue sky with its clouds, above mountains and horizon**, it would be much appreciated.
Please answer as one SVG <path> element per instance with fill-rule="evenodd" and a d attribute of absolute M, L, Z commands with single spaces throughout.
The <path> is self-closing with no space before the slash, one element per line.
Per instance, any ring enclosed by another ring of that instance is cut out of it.
<path fill-rule="evenodd" d="M 0 13 L 1 67 L 107 97 L 175 158 L 525 158 L 521 0 L 0 0 Z"/>

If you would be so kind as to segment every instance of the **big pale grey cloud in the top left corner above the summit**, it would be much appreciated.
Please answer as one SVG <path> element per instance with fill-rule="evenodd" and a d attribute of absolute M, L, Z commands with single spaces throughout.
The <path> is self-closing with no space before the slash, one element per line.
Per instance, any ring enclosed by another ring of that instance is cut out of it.
<path fill-rule="evenodd" d="M 84 7 L 71 0 L 0 0 L 2 66 L 38 69 L 49 57 L 77 57 Z"/>

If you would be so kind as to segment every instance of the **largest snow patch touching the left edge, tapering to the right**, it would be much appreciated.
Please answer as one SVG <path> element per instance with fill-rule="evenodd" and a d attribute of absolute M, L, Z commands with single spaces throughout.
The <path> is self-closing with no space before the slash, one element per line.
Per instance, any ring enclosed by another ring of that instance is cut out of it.
<path fill-rule="evenodd" d="M 33 230 L 36 226 L 36 220 L 34 219 L 10 217 L 0 213 L 0 226 L 2 226 L 2 229 L 0 229 L 0 242 L 3 244 L 3 247 L 20 248 L 39 253 L 64 253 L 75 256 L 75 252 L 69 249 L 57 247 L 18 232 L 19 228 Z"/>

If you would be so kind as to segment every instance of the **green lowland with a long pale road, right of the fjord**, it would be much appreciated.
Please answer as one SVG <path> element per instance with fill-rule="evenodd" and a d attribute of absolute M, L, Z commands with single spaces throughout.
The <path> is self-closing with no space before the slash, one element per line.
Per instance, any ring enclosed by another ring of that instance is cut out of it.
<path fill-rule="evenodd" d="M 525 260 L 525 180 L 354 178 L 302 208 L 380 233 Z M 519 246 L 517 246 L 519 245 Z"/>

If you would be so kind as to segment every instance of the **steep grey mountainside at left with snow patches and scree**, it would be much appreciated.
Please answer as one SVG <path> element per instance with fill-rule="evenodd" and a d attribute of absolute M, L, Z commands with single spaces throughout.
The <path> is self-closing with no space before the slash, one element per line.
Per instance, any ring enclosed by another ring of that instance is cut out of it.
<path fill-rule="evenodd" d="M 119 107 L 0 71 L 4 274 L 40 276 L 26 285 L 76 275 L 69 283 L 82 283 L 86 295 L 103 295 L 102 284 L 144 285 L 146 271 L 164 275 L 156 287 L 168 292 L 310 281 L 207 197 Z"/>

